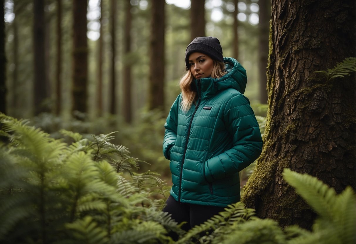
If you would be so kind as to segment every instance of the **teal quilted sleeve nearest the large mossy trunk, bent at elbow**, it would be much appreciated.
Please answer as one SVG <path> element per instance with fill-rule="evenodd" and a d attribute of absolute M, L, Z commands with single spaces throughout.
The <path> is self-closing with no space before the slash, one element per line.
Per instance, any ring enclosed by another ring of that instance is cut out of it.
<path fill-rule="evenodd" d="M 209 182 L 231 176 L 253 163 L 262 152 L 262 137 L 250 102 L 242 95 L 226 104 L 224 120 L 233 136 L 232 148 L 205 161 L 205 177 Z"/>

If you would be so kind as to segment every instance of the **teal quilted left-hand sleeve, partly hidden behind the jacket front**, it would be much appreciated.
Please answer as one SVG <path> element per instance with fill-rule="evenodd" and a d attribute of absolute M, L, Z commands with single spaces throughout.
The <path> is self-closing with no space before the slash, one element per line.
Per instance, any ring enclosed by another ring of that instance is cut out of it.
<path fill-rule="evenodd" d="M 173 102 L 171 110 L 169 111 L 164 128 L 163 140 L 163 155 L 166 159 L 170 159 L 169 150 L 176 144 L 177 140 L 177 121 L 178 121 L 178 107 L 179 107 L 180 94 Z"/>

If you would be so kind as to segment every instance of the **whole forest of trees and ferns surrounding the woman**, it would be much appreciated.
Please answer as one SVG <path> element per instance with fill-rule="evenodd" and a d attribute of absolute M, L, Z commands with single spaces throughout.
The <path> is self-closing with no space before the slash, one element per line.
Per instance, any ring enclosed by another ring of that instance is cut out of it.
<path fill-rule="evenodd" d="M 1 7 L 0 243 L 356 243 L 354 0 Z M 241 201 L 185 231 L 162 143 L 199 36 L 246 69 L 263 149 Z"/>

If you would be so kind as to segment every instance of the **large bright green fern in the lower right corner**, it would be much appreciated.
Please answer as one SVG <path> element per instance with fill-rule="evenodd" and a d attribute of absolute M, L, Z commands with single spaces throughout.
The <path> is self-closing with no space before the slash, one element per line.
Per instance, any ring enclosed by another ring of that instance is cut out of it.
<path fill-rule="evenodd" d="M 356 243 L 356 197 L 350 186 L 339 195 L 316 177 L 284 169 L 283 177 L 319 214 L 313 232 L 288 243 Z"/>

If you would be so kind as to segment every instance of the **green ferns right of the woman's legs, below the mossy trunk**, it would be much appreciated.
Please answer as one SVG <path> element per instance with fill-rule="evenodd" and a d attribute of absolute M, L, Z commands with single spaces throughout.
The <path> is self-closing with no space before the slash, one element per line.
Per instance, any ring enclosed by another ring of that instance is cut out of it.
<path fill-rule="evenodd" d="M 189 230 L 177 243 L 351 244 L 356 242 L 356 197 L 351 187 L 336 195 L 333 189 L 310 175 L 285 169 L 283 176 L 319 214 L 312 232 L 298 226 L 281 229 L 272 219 L 255 217 L 253 209 L 245 209 L 239 202 Z"/>

